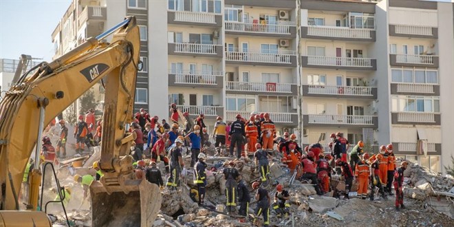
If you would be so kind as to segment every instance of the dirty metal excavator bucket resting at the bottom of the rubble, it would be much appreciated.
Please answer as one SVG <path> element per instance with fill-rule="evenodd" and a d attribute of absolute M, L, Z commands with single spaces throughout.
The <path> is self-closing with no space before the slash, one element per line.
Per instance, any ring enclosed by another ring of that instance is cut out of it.
<path fill-rule="evenodd" d="M 91 226 L 153 226 L 162 202 L 159 186 L 127 180 L 108 189 L 98 181 L 90 185 Z"/>

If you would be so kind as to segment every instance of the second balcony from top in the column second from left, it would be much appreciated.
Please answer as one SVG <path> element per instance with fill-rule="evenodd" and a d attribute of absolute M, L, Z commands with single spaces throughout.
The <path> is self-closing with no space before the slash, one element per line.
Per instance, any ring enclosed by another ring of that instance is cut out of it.
<path fill-rule="evenodd" d="M 263 53 L 261 50 L 239 52 L 237 48 L 226 52 L 226 64 L 267 65 L 296 67 L 296 52 L 279 50 L 277 53 Z"/>

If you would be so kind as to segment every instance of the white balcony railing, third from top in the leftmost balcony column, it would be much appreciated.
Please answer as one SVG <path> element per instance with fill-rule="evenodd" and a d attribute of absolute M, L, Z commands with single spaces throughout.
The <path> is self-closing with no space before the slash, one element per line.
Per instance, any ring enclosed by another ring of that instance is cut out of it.
<path fill-rule="evenodd" d="M 169 70 L 169 74 L 175 74 L 175 83 L 193 85 L 217 85 L 217 76 L 223 76 L 223 72 L 205 72 L 191 70 L 184 70 L 182 72 Z"/>

